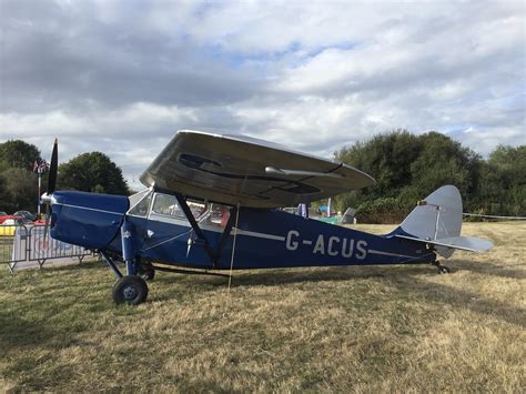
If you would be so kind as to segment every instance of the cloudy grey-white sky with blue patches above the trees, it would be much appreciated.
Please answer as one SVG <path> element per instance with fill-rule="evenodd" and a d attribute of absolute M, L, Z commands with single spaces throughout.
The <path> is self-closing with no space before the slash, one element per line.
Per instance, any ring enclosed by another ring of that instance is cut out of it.
<path fill-rule="evenodd" d="M 0 142 L 108 154 L 176 130 L 325 158 L 395 129 L 526 143 L 523 1 L 0 0 Z"/>

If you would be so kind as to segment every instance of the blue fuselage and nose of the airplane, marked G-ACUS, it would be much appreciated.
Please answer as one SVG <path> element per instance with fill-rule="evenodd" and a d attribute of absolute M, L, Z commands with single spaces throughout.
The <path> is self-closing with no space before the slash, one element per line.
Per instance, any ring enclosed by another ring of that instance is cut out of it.
<path fill-rule="evenodd" d="M 127 222 L 125 236 L 131 239 L 134 256 L 219 270 L 231 266 L 234 234 L 233 269 L 429 263 L 436 259 L 424 244 L 391 234 L 374 235 L 276 210 L 241 209 L 237 226 L 223 245 L 224 225 L 205 219 L 199 222 L 209 245 L 219 253 L 214 262 L 184 218 L 158 220 L 128 214 L 128 210 L 125 196 L 55 192 L 51 236 L 121 253 L 120 230 Z"/>

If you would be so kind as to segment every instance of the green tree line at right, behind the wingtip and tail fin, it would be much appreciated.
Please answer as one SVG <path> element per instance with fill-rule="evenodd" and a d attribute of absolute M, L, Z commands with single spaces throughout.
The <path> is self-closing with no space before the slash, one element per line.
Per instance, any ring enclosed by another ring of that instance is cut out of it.
<path fill-rule="evenodd" d="M 526 216 L 526 145 L 498 145 L 483 159 L 438 132 L 396 130 L 334 155 L 376 180 L 371 188 L 335 199 L 341 211 L 356 209 L 358 221 L 399 222 L 418 200 L 444 184 L 459 189 L 464 212 Z"/>

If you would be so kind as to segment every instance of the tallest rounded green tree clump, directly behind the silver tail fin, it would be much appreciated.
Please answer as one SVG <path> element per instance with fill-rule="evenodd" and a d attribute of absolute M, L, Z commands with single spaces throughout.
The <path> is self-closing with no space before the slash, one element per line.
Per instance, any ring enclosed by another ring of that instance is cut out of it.
<path fill-rule="evenodd" d="M 434 131 L 414 135 L 396 130 L 343 148 L 335 156 L 375 178 L 374 186 L 343 194 L 335 201 L 340 211 L 353 206 L 358 213 L 366 213 L 367 220 L 375 210 L 385 220 L 395 216 L 390 210 L 401 220 L 416 201 L 444 184 L 455 184 L 471 205 L 478 186 L 478 154 Z"/>

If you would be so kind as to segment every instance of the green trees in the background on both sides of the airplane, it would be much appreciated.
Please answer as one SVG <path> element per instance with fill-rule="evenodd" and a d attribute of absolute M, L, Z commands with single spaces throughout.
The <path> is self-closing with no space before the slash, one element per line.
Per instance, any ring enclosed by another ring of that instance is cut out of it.
<path fill-rule="evenodd" d="M 415 135 L 396 130 L 343 147 L 337 161 L 375 178 L 376 184 L 334 199 L 340 211 L 356 209 L 361 222 L 401 221 L 422 200 L 444 184 L 456 185 L 464 211 L 526 216 L 526 145 L 498 145 L 487 159 L 438 132 Z M 0 143 L 0 211 L 36 211 L 34 162 L 42 161 L 33 144 Z M 48 173 L 43 173 L 42 190 Z M 59 165 L 58 189 L 130 194 L 122 171 L 101 152 L 82 153 Z"/>

